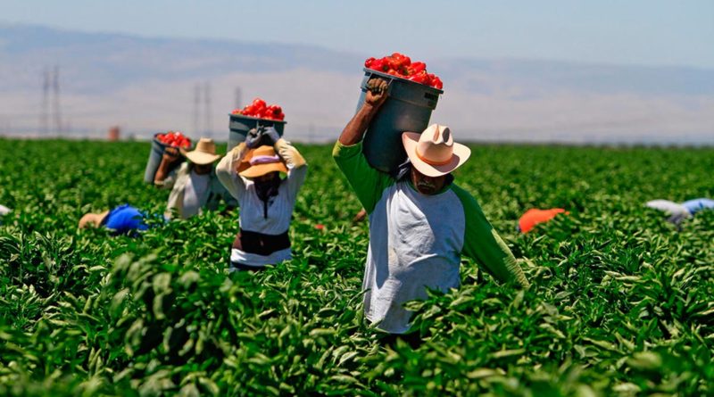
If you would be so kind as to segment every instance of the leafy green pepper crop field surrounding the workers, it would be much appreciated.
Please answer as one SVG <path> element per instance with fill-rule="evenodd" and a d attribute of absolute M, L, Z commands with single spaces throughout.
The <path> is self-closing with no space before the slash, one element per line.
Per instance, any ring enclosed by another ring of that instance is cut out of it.
<path fill-rule="evenodd" d="M 714 395 L 714 211 L 677 230 L 643 206 L 714 196 L 713 149 L 472 146 L 456 182 L 533 286 L 465 259 L 460 290 L 411 303 L 412 349 L 365 324 L 368 226 L 331 145 L 299 148 L 294 260 L 228 276 L 235 212 L 78 230 L 163 211 L 148 144 L 0 139 L 0 394 Z M 520 235 L 533 207 L 571 213 Z"/>

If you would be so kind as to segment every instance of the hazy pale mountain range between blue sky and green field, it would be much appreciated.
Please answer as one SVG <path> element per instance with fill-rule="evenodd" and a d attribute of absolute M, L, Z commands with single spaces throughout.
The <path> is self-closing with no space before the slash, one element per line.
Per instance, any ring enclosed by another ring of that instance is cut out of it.
<path fill-rule="evenodd" d="M 398 48 L 394 49 L 399 51 Z M 311 45 L 92 34 L 0 24 L 0 135 L 36 135 L 43 71 L 59 65 L 63 124 L 85 136 L 210 128 L 261 96 L 286 135 L 334 139 L 352 116 L 369 56 Z M 532 60 L 422 59 L 444 80 L 432 121 L 460 139 L 714 144 L 714 70 Z M 195 111 L 195 87 L 208 82 Z"/>

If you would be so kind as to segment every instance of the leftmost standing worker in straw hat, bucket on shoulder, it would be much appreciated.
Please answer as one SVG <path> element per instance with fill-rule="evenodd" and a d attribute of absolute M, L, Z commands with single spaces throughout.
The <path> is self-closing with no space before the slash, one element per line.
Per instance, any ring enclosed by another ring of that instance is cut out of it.
<path fill-rule="evenodd" d="M 194 150 L 187 152 L 181 148 L 181 153 L 188 162 L 169 173 L 167 170 L 173 161 L 179 160 L 179 153 L 176 148 L 167 148 L 154 177 L 154 185 L 171 189 L 164 214 L 166 219 L 170 219 L 174 212 L 179 218 L 187 219 L 204 208 L 216 210 L 221 200 L 228 207 L 237 206 L 236 200 L 216 178 L 213 163 L 220 159 L 220 154 L 216 154 L 216 144 L 211 138 L 201 138 Z"/>

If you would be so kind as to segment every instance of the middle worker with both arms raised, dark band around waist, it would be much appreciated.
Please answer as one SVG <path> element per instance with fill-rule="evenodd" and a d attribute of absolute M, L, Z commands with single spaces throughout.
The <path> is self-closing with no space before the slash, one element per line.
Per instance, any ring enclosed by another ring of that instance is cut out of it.
<path fill-rule="evenodd" d="M 303 156 L 275 128 L 258 128 L 223 157 L 216 173 L 240 204 L 240 231 L 231 249 L 229 271 L 260 270 L 289 260 L 287 231 L 307 175 Z"/>

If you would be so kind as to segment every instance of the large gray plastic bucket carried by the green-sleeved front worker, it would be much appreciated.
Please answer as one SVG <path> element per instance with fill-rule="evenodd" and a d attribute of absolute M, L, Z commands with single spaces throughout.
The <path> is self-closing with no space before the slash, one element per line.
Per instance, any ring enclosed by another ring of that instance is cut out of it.
<path fill-rule="evenodd" d="M 431 112 L 436 109 L 439 95 L 444 94 L 444 91 L 364 68 L 357 112 L 364 103 L 364 96 L 367 95 L 367 82 L 377 77 L 385 79 L 389 83 L 389 88 L 386 91 L 385 103 L 382 103 L 369 123 L 362 152 L 369 165 L 377 170 L 391 173 L 407 157 L 402 145 L 402 133 L 421 132 L 426 129 L 431 119 Z"/>

